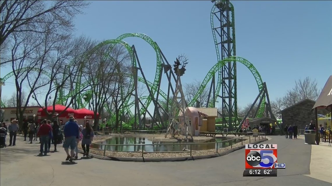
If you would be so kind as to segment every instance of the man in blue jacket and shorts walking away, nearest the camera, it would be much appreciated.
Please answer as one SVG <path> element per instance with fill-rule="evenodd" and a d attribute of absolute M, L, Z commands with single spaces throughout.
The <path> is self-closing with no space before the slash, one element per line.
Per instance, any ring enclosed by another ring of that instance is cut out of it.
<path fill-rule="evenodd" d="M 69 117 L 69 121 L 64 125 L 63 133 L 65 137 L 65 141 L 63 143 L 64 151 L 67 153 L 66 161 L 72 162 L 73 159 L 71 154 L 74 154 L 74 150 L 76 147 L 76 139 L 78 138 L 78 125 L 74 121 L 74 116 Z M 69 147 L 70 147 L 70 154 L 69 154 Z"/>

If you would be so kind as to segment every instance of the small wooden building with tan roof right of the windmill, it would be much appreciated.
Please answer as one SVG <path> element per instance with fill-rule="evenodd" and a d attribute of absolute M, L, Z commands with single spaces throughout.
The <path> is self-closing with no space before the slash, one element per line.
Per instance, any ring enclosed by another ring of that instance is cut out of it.
<path fill-rule="evenodd" d="M 200 132 L 215 132 L 215 118 L 218 117 L 218 109 L 201 107 L 197 110 L 204 114 Z"/>

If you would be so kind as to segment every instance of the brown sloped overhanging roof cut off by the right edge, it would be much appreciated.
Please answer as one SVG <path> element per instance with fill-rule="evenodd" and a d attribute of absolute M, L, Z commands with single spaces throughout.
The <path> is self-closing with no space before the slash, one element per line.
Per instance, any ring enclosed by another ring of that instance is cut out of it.
<path fill-rule="evenodd" d="M 312 109 L 329 106 L 332 106 L 332 75 L 327 79 L 325 86 Z"/>

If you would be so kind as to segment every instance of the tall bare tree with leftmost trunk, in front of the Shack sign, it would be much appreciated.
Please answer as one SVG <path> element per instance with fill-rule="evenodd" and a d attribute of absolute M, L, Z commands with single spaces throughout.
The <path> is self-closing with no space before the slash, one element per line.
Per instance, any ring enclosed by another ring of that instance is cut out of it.
<path fill-rule="evenodd" d="M 55 47 L 61 40 L 69 39 L 73 18 L 87 3 L 65 0 L 47 5 L 38 0 L 0 2 L 0 45 L 3 50 L 0 65 L 12 66 L 17 90 L 16 113 L 20 123 L 30 97 L 37 89 L 49 84 L 48 75 L 43 73 L 51 67 L 48 55 L 56 51 Z M 31 91 L 23 104 L 22 85 L 27 83 Z"/>

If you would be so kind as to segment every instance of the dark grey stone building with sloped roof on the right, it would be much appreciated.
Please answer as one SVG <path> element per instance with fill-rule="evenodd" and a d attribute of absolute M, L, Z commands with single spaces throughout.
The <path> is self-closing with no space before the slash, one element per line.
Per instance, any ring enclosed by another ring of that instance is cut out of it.
<path fill-rule="evenodd" d="M 314 104 L 314 102 L 307 100 L 283 111 L 283 128 L 285 125 L 296 123 L 298 129 L 304 129 L 311 120 L 315 120 L 315 110 L 310 111 Z M 324 108 L 317 109 L 317 114 L 326 115 L 327 113 L 330 112 Z"/>

